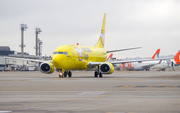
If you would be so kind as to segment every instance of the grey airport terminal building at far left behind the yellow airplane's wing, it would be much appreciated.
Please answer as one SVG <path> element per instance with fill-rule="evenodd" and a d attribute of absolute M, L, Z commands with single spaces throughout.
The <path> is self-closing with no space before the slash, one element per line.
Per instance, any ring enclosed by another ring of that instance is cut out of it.
<path fill-rule="evenodd" d="M 8 59 L 7 57 L 15 58 L 28 58 L 28 59 L 51 59 L 51 57 L 29 55 L 24 52 L 21 56 L 21 52 L 12 51 L 9 46 L 0 46 L 0 71 L 3 70 L 17 70 L 17 71 L 29 71 L 38 70 L 38 62 L 30 62 L 23 60 Z"/>

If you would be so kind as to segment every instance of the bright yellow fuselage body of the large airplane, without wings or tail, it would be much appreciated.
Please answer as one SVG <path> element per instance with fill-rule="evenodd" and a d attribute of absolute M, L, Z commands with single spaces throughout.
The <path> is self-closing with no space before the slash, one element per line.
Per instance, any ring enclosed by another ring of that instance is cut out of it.
<path fill-rule="evenodd" d="M 105 62 L 106 57 L 104 48 L 64 45 L 54 50 L 52 61 L 56 69 L 83 70 L 87 69 L 89 62 Z"/>

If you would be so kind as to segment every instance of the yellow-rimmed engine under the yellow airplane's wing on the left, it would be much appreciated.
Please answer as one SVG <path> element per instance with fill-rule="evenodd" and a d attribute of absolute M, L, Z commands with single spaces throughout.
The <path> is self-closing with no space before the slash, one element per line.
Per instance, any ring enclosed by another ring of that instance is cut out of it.
<path fill-rule="evenodd" d="M 51 74 L 54 72 L 54 66 L 51 62 L 44 62 L 40 65 L 42 73 Z"/>

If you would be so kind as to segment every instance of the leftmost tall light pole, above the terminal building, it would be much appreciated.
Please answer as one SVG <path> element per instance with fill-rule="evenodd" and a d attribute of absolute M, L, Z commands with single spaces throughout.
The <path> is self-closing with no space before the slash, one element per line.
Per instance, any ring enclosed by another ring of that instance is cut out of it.
<path fill-rule="evenodd" d="M 19 45 L 19 47 L 21 47 L 21 56 L 23 57 L 24 55 L 24 47 L 26 47 L 26 45 L 24 45 L 24 31 L 28 28 L 26 24 L 20 24 L 21 26 L 21 44 Z"/>

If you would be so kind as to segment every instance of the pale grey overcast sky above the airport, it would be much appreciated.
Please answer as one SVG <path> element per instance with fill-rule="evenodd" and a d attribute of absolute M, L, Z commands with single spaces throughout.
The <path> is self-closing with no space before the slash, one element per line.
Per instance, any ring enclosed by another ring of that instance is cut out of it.
<path fill-rule="evenodd" d="M 94 46 L 106 13 L 107 50 L 142 47 L 114 53 L 117 58 L 149 57 L 180 50 L 179 0 L 0 0 L 0 46 L 20 52 L 20 24 L 25 52 L 35 55 L 35 28 L 41 28 L 43 55 L 61 45 Z"/>

